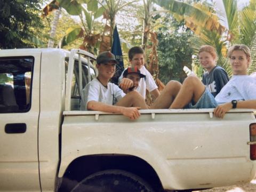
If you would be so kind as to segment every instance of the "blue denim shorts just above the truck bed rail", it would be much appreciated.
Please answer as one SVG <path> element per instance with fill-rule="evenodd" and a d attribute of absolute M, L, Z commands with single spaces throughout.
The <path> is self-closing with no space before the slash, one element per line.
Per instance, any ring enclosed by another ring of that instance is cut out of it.
<path fill-rule="evenodd" d="M 192 102 L 188 104 L 188 109 L 207 109 L 207 108 L 215 108 L 218 104 L 213 97 L 212 93 L 206 87 L 204 93 L 202 94 L 201 98 L 193 105 Z"/>

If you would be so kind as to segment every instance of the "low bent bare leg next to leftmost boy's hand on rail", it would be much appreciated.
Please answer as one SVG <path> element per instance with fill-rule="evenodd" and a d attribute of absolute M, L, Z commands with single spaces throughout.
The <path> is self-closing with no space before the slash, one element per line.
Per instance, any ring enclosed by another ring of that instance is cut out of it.
<path fill-rule="evenodd" d="M 145 99 L 137 91 L 127 93 L 120 101 L 116 103 L 116 106 L 140 107 L 141 109 L 148 109 Z"/>

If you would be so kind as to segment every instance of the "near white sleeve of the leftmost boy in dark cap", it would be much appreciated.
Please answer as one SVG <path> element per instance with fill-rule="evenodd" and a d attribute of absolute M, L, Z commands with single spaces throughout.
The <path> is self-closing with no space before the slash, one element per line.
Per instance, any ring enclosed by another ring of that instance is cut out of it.
<path fill-rule="evenodd" d="M 80 110 L 87 110 L 87 103 L 89 101 L 99 101 L 100 87 L 97 84 L 87 84 L 81 94 Z"/>

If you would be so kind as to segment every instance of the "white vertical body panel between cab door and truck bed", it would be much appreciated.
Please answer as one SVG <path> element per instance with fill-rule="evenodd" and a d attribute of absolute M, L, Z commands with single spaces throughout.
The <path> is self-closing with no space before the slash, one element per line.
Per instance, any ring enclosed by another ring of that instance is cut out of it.
<path fill-rule="evenodd" d="M 42 52 L 41 94 L 42 101 L 38 151 L 42 189 L 54 191 L 59 164 L 59 134 L 65 99 L 65 58 L 69 52 L 60 49 Z M 50 70 L 49 70 L 50 69 Z M 60 71 L 60 73 L 52 73 Z M 54 78 L 53 78 L 54 77 Z"/>

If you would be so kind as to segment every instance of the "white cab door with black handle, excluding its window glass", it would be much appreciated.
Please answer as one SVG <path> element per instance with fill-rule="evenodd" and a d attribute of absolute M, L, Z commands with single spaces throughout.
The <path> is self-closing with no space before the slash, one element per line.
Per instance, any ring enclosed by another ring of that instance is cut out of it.
<path fill-rule="evenodd" d="M 39 191 L 38 172 L 38 116 L 40 51 L 1 50 L 0 57 L 33 56 L 33 105 L 27 113 L 0 114 L 0 190 Z M 23 134 L 5 133 L 6 124 L 26 123 L 27 131 Z M 15 184 L 15 185 L 14 185 Z"/>

